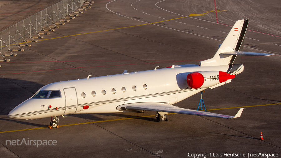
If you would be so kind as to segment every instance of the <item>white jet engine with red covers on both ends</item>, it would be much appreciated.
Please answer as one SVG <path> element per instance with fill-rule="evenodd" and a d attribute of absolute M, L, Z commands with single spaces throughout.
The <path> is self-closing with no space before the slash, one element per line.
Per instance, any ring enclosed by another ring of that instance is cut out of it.
<path fill-rule="evenodd" d="M 188 74 L 186 81 L 190 88 L 208 88 L 233 78 L 235 78 L 235 75 L 226 72 L 205 71 Z"/>

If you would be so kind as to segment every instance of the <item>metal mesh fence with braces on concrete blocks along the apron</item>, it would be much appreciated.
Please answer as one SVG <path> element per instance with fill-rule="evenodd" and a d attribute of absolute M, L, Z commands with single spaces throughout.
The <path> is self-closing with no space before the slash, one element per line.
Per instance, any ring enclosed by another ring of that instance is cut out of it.
<path fill-rule="evenodd" d="M 85 2 L 86 1 L 86 2 Z M 59 27 L 66 18 L 74 18 L 77 9 L 89 4 L 88 0 L 63 0 L 38 12 L 21 22 L 0 32 L 0 61 L 8 62 L 5 56 L 16 56 L 13 51 L 23 51 L 20 46 L 30 47 L 28 42 L 37 42 L 34 38 L 43 38 L 42 34 L 54 31 L 52 28 Z M 80 9 L 79 9 L 80 10 Z M 71 13 L 74 13 L 71 15 Z M 66 17 L 66 16 L 69 17 Z M 3 58 L 4 60 L 1 60 Z"/>

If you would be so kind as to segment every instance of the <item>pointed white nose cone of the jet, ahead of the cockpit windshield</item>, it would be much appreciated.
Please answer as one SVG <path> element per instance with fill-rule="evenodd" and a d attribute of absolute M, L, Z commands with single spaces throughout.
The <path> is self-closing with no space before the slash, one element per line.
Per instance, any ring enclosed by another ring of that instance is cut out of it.
<path fill-rule="evenodd" d="M 34 111 L 34 106 L 32 100 L 27 99 L 26 101 L 22 102 L 20 105 L 15 107 L 8 114 L 8 117 L 17 118 L 17 119 L 32 119 L 34 117 L 31 115 L 33 111 Z"/>

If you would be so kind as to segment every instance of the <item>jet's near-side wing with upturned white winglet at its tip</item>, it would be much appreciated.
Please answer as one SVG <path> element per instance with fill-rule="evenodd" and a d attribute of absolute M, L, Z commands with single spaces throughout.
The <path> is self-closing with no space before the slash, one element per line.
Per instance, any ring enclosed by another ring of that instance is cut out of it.
<path fill-rule="evenodd" d="M 241 113 L 244 108 L 241 108 L 235 116 L 229 115 L 222 115 L 222 114 L 215 114 L 211 112 L 205 111 L 197 111 L 197 110 L 190 110 L 184 109 L 177 106 L 173 106 L 167 103 L 160 103 L 160 102 L 140 102 L 140 103 L 130 103 L 130 104 L 123 104 L 118 106 L 121 109 L 124 107 L 127 110 L 147 110 L 147 111 L 163 111 L 163 112 L 174 112 L 179 114 L 189 114 L 189 115 L 199 115 L 199 116 L 209 116 L 209 117 L 219 117 L 219 118 L 236 118 L 240 117 Z M 117 109 L 118 109 L 117 107 Z"/>

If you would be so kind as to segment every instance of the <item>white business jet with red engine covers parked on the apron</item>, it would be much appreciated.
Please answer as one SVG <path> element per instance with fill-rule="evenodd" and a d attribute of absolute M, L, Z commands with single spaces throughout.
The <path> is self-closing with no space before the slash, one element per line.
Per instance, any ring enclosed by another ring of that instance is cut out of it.
<path fill-rule="evenodd" d="M 269 56 L 273 54 L 242 52 L 249 19 L 235 22 L 214 57 L 200 65 L 173 65 L 167 68 L 128 72 L 102 77 L 61 81 L 43 86 L 31 98 L 19 104 L 8 117 L 38 119 L 52 117 L 50 126 L 58 127 L 58 116 L 68 114 L 116 113 L 123 111 L 157 111 L 159 121 L 167 120 L 168 112 L 237 118 L 205 111 L 173 106 L 207 88 L 231 82 L 243 72 L 241 56 Z"/>

